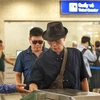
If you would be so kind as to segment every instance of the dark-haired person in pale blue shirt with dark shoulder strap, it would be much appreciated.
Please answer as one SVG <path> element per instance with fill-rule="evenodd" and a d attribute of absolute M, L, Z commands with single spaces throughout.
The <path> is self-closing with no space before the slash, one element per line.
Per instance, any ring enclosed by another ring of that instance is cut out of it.
<path fill-rule="evenodd" d="M 85 67 L 87 69 L 89 78 L 92 77 L 89 61 L 93 62 L 93 61 L 96 61 L 96 59 L 97 59 L 95 49 L 92 49 L 93 52 L 91 52 L 88 49 L 88 46 L 90 44 L 91 44 L 90 43 L 90 37 L 89 36 L 83 36 L 81 38 L 81 45 L 79 45 L 77 47 L 77 49 L 80 50 L 82 52 L 82 54 L 83 54 L 83 59 L 84 59 Z"/>

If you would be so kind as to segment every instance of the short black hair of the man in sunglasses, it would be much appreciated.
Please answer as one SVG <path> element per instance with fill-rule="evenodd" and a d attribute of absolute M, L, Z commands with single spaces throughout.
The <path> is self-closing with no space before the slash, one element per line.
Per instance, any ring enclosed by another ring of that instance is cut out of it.
<path fill-rule="evenodd" d="M 30 30 L 30 37 L 32 36 L 42 36 L 43 30 L 39 27 L 34 27 Z"/>

